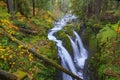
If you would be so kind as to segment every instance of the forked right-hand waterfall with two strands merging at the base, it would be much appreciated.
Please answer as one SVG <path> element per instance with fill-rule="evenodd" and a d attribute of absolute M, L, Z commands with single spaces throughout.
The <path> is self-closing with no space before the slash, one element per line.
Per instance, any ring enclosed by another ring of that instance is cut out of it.
<path fill-rule="evenodd" d="M 73 31 L 73 34 L 75 35 L 75 41 L 73 41 L 69 36 L 74 57 L 73 61 L 75 64 L 75 67 L 77 69 L 77 74 L 81 78 L 83 78 L 83 68 L 85 64 L 85 60 L 87 59 L 87 50 L 84 48 L 83 43 L 77 32 Z"/>

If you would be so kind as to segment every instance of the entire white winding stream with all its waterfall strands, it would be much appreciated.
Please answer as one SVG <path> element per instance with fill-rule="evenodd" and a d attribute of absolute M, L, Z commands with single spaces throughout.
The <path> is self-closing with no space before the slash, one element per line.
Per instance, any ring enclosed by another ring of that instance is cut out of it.
<path fill-rule="evenodd" d="M 61 65 L 83 79 L 83 68 L 85 60 L 87 59 L 87 50 L 84 48 L 79 35 L 73 31 L 73 34 L 75 35 L 75 41 L 72 40 L 70 36 L 68 36 L 73 49 L 73 59 L 66 48 L 62 45 L 62 41 L 57 40 L 54 36 L 54 33 L 61 30 L 67 24 L 67 22 L 70 22 L 76 18 L 77 17 L 72 14 L 66 14 L 58 22 L 55 22 L 54 27 L 48 33 L 48 39 L 56 42 L 56 45 L 58 47 L 58 56 L 61 59 Z M 63 73 L 62 80 L 74 79 L 66 73 Z"/>

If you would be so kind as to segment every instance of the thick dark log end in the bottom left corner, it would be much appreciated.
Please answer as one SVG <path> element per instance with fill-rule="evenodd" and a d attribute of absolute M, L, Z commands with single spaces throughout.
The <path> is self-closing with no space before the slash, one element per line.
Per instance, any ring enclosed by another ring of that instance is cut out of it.
<path fill-rule="evenodd" d="M 0 70 L 0 80 L 17 80 L 17 77 L 14 74 Z"/>

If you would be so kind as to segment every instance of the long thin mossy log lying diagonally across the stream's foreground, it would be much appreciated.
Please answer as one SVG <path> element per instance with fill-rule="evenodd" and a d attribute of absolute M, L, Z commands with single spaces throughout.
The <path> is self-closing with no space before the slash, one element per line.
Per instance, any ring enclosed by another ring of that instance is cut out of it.
<path fill-rule="evenodd" d="M 3 29 L 5 30 L 5 28 L 3 27 Z M 73 78 L 77 79 L 77 80 L 82 80 L 80 77 L 78 77 L 76 74 L 72 73 L 71 71 L 63 68 L 62 66 L 60 66 L 59 64 L 55 63 L 53 60 L 43 56 L 42 54 L 38 54 L 33 48 L 28 47 L 25 43 L 21 42 L 20 40 L 16 39 L 15 37 L 13 37 L 11 34 L 9 34 L 7 31 L 5 31 L 5 34 L 7 37 L 9 37 L 12 41 L 16 42 L 19 45 L 22 45 L 23 48 L 27 49 L 29 52 L 31 52 L 33 54 L 34 57 L 41 59 L 47 63 L 49 63 L 50 65 L 52 65 L 53 67 L 55 67 L 56 69 L 72 76 Z"/>

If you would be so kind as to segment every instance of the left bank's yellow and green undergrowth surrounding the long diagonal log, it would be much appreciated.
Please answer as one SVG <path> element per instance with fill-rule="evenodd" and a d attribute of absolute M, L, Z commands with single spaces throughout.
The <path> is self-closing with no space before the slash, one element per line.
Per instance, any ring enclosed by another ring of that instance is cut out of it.
<path fill-rule="evenodd" d="M 6 28 L 3 30 L 2 26 Z M 7 9 L 0 7 L 0 69 L 20 73 L 19 78 L 27 76 L 24 80 L 53 80 L 55 68 L 10 40 L 5 31 L 22 41 L 36 52 L 56 61 L 57 54 L 53 42 L 47 39 L 47 32 L 53 26 L 52 13 L 41 10 L 40 14 L 26 18 L 19 12 L 11 18 Z M 56 56 L 55 56 L 56 55 Z M 57 62 L 57 61 L 56 61 Z M 25 74 L 23 74 L 25 73 Z"/>

